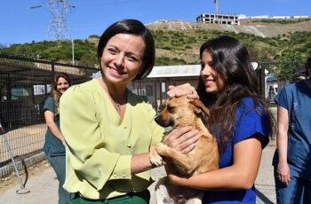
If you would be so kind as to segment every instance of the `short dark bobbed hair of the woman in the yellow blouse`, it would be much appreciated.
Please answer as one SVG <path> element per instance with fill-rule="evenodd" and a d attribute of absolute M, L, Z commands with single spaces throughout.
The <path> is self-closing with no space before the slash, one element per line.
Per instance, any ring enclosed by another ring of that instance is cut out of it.
<path fill-rule="evenodd" d="M 99 63 L 102 52 L 104 51 L 108 41 L 111 37 L 117 34 L 140 35 L 143 38 L 145 42 L 145 52 L 144 58 L 142 59 L 142 68 L 134 80 L 146 78 L 155 65 L 156 50 L 155 41 L 151 32 L 140 22 L 140 20 L 120 20 L 112 24 L 104 31 L 104 33 L 100 36 L 100 42 L 97 47 L 97 57 L 99 59 Z"/>

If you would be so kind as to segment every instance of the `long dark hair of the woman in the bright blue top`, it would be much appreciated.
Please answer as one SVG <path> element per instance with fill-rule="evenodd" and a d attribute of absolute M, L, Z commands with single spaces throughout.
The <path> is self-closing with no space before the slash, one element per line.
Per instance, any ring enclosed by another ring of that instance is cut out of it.
<path fill-rule="evenodd" d="M 211 54 L 213 69 L 218 74 L 215 76 L 216 82 L 220 76 L 225 79 L 225 87 L 217 93 L 217 97 L 206 92 L 201 77 L 196 88 L 203 103 L 211 105 L 211 118 L 208 125 L 211 129 L 217 129 L 219 145 L 224 150 L 234 131 L 235 110 L 242 98 L 251 97 L 256 110 L 258 109 L 256 107 L 261 104 L 267 113 L 270 112 L 267 109 L 267 103 L 259 94 L 258 78 L 243 43 L 234 37 L 220 35 L 202 44 L 200 59 L 202 59 L 203 51 L 209 51 Z M 268 118 L 271 133 L 271 115 Z"/>

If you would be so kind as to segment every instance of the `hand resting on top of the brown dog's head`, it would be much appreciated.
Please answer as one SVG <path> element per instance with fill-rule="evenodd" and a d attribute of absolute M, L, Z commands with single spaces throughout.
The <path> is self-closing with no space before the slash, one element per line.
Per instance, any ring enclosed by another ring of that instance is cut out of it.
<path fill-rule="evenodd" d="M 190 99 L 198 99 L 199 95 L 195 91 L 195 87 L 191 86 L 189 83 L 185 83 L 179 86 L 169 86 L 169 90 L 167 91 L 167 96 L 169 98 L 173 97 L 181 97 L 187 95 L 187 98 Z"/>

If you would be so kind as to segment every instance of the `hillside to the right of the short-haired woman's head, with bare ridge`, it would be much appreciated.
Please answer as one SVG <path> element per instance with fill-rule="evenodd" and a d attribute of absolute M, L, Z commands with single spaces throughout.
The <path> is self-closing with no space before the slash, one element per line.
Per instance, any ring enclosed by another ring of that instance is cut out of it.
<path fill-rule="evenodd" d="M 241 20 L 240 26 L 157 20 L 148 28 L 154 32 L 161 65 L 198 63 L 201 44 L 217 35 L 240 39 L 255 61 L 279 59 L 289 50 L 311 54 L 311 20 Z"/>

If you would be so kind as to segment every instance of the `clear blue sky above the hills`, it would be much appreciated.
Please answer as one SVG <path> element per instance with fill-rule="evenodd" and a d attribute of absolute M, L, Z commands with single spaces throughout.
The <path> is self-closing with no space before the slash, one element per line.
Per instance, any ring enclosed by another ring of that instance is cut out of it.
<path fill-rule="evenodd" d="M 55 39 L 51 0 L 0 0 L 0 44 L 32 43 Z M 55 0 L 56 2 L 56 0 Z M 60 0 L 59 0 L 60 2 Z M 112 23 L 137 19 L 195 22 L 202 13 L 215 13 L 214 0 L 67 0 L 70 5 L 62 34 L 68 39 L 101 35 Z M 41 7 L 39 7 L 41 6 Z M 219 0 L 219 14 L 246 16 L 310 16 L 311 0 Z"/>

